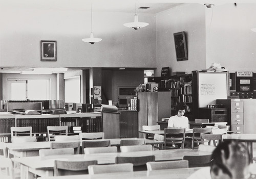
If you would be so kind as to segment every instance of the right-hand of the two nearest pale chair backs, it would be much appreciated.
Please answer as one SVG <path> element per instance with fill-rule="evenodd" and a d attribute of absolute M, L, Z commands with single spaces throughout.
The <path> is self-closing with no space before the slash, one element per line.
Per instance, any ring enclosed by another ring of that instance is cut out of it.
<path fill-rule="evenodd" d="M 148 171 L 173 169 L 173 168 L 188 168 L 188 161 L 164 161 L 164 162 L 147 162 L 146 167 Z"/>

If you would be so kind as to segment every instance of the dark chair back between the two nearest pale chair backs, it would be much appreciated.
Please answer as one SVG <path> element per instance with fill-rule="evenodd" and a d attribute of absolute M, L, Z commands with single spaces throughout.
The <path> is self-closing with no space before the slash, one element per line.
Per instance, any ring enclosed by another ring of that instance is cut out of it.
<path fill-rule="evenodd" d="M 116 157 L 116 164 L 132 163 L 133 171 L 147 170 L 147 162 L 155 162 L 155 156 Z"/>

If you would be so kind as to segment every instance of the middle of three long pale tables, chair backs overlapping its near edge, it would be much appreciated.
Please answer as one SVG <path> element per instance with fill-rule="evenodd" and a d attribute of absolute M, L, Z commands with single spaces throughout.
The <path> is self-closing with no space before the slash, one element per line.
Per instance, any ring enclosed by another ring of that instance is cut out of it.
<path fill-rule="evenodd" d="M 152 150 L 152 151 L 135 151 L 135 152 L 115 152 L 105 154 L 90 154 L 90 155 L 63 155 L 51 156 L 48 158 L 40 157 L 23 157 L 12 158 L 13 162 L 20 163 L 21 179 L 33 177 L 31 173 L 39 176 L 53 175 L 54 160 L 97 160 L 98 164 L 114 164 L 117 156 L 121 157 L 141 157 L 154 155 L 156 161 L 172 161 L 182 160 L 184 155 L 210 155 L 211 152 L 198 151 L 193 149 L 173 149 L 173 150 Z M 25 174 L 26 173 L 26 174 Z"/>

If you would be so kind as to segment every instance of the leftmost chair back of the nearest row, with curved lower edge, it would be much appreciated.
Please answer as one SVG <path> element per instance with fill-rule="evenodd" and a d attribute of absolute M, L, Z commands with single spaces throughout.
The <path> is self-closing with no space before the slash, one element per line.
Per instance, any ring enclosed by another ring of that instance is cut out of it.
<path fill-rule="evenodd" d="M 92 161 L 54 161 L 54 176 L 88 174 L 89 165 L 97 165 L 96 160 Z"/>

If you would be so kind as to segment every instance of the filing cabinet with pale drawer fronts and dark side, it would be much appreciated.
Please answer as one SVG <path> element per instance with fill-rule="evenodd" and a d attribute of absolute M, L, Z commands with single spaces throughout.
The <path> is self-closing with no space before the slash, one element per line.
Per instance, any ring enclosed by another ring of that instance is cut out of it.
<path fill-rule="evenodd" d="M 218 105 L 228 109 L 228 125 L 234 133 L 244 133 L 244 104 L 240 99 L 217 99 Z"/>

